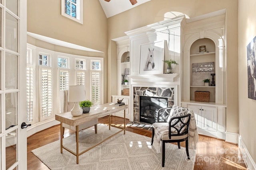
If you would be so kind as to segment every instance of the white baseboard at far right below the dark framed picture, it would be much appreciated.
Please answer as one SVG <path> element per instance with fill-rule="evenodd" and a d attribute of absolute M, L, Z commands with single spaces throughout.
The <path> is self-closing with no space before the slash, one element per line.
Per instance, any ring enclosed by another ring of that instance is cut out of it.
<path fill-rule="evenodd" d="M 238 145 L 240 151 L 242 152 L 242 156 L 248 166 L 249 170 L 256 170 L 256 163 L 254 162 L 254 160 L 252 159 L 252 156 L 250 155 L 250 153 L 248 152 L 246 146 L 244 145 L 242 138 L 239 138 L 239 145 Z"/>

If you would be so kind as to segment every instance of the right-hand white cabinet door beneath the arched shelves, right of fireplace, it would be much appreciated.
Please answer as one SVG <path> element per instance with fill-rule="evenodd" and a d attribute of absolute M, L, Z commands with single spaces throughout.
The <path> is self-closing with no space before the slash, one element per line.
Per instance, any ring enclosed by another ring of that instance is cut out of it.
<path fill-rule="evenodd" d="M 202 129 L 208 131 L 217 131 L 217 108 L 215 107 L 202 107 Z"/>

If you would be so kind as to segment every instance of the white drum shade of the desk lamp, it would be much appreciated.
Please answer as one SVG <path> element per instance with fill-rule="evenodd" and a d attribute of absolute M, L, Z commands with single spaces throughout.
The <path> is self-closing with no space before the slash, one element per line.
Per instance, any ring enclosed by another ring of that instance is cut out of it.
<path fill-rule="evenodd" d="M 68 102 L 81 102 L 85 100 L 85 90 L 83 85 L 69 86 Z"/>

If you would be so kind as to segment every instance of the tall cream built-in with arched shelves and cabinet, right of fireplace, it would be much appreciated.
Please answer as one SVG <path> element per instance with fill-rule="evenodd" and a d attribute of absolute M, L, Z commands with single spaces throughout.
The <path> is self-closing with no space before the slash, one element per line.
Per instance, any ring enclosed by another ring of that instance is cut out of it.
<path fill-rule="evenodd" d="M 220 139 L 226 139 L 224 30 L 224 15 L 186 24 L 183 49 L 184 76 L 181 89 L 181 105 L 194 111 L 198 133 Z M 204 52 L 200 51 L 200 46 L 203 45 L 206 46 Z M 204 79 L 210 79 L 210 86 L 204 86 Z M 195 91 L 210 92 L 210 102 L 195 101 Z"/>

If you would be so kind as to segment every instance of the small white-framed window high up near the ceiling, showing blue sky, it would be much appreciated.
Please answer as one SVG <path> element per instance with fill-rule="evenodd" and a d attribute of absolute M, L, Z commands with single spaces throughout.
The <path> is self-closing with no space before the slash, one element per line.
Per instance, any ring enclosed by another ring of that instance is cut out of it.
<path fill-rule="evenodd" d="M 61 14 L 83 24 L 83 0 L 61 0 Z"/>

